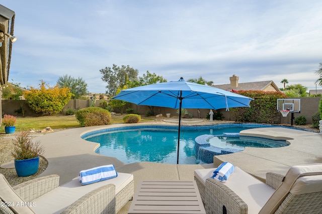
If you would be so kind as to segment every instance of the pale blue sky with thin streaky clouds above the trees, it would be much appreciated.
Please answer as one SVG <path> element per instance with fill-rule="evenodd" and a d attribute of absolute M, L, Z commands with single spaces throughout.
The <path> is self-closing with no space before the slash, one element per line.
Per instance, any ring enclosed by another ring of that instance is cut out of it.
<path fill-rule="evenodd" d="M 168 81 L 272 80 L 316 85 L 320 0 L 16 0 L 9 82 L 38 87 L 67 74 L 105 93 L 101 69 L 129 65 Z"/>

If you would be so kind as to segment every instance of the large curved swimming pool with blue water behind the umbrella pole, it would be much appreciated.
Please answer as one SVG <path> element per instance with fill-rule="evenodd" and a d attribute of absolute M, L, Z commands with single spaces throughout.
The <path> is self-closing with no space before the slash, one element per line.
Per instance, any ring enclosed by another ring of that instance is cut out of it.
<path fill-rule="evenodd" d="M 198 157 L 199 146 L 195 139 L 202 135 L 220 136 L 222 133 L 239 133 L 245 129 L 272 127 L 258 124 L 223 124 L 214 126 L 183 126 L 180 135 L 180 164 L 211 163 Z M 134 162 L 177 162 L 177 126 L 134 126 L 103 129 L 87 133 L 83 139 L 100 143 L 95 151 L 105 156 L 116 157 L 124 163 Z M 236 137 L 228 137 L 227 141 Z M 239 138 L 239 137 L 238 137 Z M 258 139 L 266 142 L 268 139 Z M 285 141 L 284 141 L 285 142 Z M 240 151 L 240 150 L 239 150 Z M 234 151 L 235 152 L 235 151 Z M 226 152 L 228 154 L 232 152 Z"/>

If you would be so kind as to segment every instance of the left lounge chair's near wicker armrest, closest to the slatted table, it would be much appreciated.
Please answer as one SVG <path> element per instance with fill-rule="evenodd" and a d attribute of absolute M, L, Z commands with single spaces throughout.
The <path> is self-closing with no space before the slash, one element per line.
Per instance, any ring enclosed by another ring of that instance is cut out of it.
<path fill-rule="evenodd" d="M 69 205 L 61 213 L 115 213 L 115 185 L 101 186 Z"/>

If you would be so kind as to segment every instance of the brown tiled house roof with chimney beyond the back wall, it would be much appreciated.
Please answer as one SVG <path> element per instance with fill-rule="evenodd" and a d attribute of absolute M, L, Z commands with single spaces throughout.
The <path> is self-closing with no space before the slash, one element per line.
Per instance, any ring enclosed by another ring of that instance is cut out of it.
<path fill-rule="evenodd" d="M 227 90 L 227 91 L 231 91 L 232 89 L 233 90 L 266 90 L 268 87 L 272 86 L 276 91 L 281 91 L 272 80 L 238 83 L 238 86 L 235 88 L 231 88 L 230 84 L 212 85 L 212 86 L 223 90 Z"/>

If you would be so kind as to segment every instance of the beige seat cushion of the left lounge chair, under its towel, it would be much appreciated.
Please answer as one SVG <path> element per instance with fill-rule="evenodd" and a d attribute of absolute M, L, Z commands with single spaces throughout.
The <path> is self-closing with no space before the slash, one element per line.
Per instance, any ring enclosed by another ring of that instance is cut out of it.
<path fill-rule="evenodd" d="M 118 176 L 116 178 L 89 185 L 82 185 L 81 182 L 79 182 L 78 177 L 76 177 L 70 182 L 37 198 L 35 200 L 37 205 L 31 208 L 36 213 L 60 213 L 78 198 L 98 187 L 113 183 L 115 185 L 115 193 L 117 194 L 132 180 L 132 174 L 118 172 Z"/>

